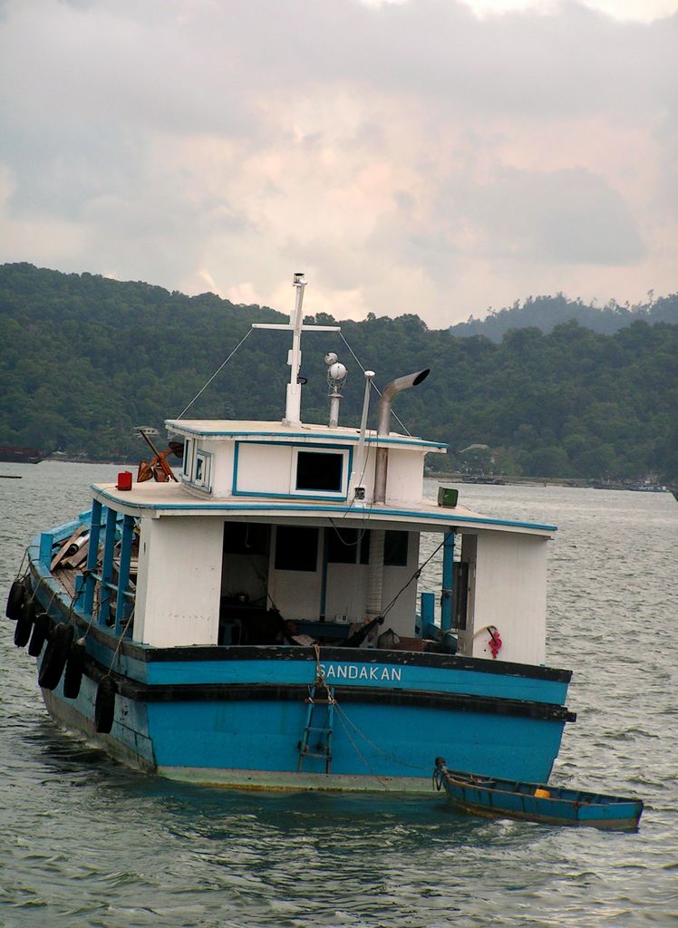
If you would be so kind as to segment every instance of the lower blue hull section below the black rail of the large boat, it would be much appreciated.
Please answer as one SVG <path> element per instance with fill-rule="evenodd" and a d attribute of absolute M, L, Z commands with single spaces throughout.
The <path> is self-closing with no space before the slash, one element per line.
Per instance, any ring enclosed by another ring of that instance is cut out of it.
<path fill-rule="evenodd" d="M 280 688 L 276 699 L 189 698 L 146 702 L 116 696 L 111 733 L 94 726 L 95 681 L 85 677 L 78 698 L 62 684 L 44 690 L 50 713 L 67 728 L 134 766 L 179 780 L 226 785 L 319 786 L 325 789 L 429 789 L 431 743 L 456 766 L 486 767 L 512 778 L 547 779 L 565 721 L 464 712 L 424 705 L 346 700 L 340 688 L 332 726 L 331 772 L 326 758 L 304 756 L 307 690 Z M 403 702 L 408 694 L 403 694 Z M 324 742 L 323 742 L 324 743 Z M 311 745 L 312 747 L 313 745 Z"/>

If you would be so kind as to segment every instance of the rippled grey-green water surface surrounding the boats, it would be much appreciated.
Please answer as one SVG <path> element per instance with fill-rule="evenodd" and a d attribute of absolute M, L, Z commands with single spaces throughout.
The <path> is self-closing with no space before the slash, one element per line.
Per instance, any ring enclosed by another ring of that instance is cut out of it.
<path fill-rule="evenodd" d="M 0 479 L 3 615 L 29 537 L 116 470 L 0 465 L 22 478 Z M 548 661 L 575 671 L 578 721 L 552 780 L 639 795 L 638 833 L 463 817 L 435 793 L 238 793 L 131 772 L 52 725 L 2 620 L 0 925 L 678 925 L 678 504 L 510 486 L 461 500 L 559 526 Z"/>

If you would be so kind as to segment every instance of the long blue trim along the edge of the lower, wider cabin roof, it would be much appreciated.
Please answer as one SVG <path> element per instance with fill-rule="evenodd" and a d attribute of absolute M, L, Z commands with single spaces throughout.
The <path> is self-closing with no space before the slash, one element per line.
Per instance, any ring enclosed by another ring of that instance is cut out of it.
<path fill-rule="evenodd" d="M 93 489 L 99 496 L 102 496 L 104 499 L 111 499 L 118 506 L 125 505 L 117 496 L 111 496 L 107 490 L 103 490 L 93 484 Z M 269 496 L 268 498 L 273 498 Z M 297 497 L 295 497 L 297 498 Z M 193 511 L 194 509 L 203 509 L 205 511 L 217 511 L 217 512 L 244 512 L 256 510 L 258 512 L 270 512 L 270 511 L 280 511 L 280 512 L 332 512 L 335 515 L 346 515 L 348 512 L 359 512 L 362 514 L 363 520 L 369 519 L 378 519 L 379 516 L 401 516 L 410 520 L 424 520 L 431 519 L 436 522 L 447 522 L 449 525 L 461 525 L 461 524 L 475 524 L 478 527 L 483 525 L 506 525 L 510 528 L 531 528 L 536 529 L 540 532 L 557 532 L 557 525 L 541 525 L 538 522 L 513 522 L 509 519 L 483 519 L 483 518 L 472 518 L 471 516 L 457 516 L 452 515 L 449 511 L 441 513 L 438 515 L 437 512 L 421 512 L 416 509 L 382 509 L 381 507 L 372 508 L 365 507 L 364 509 L 353 509 L 352 506 L 348 507 L 339 507 L 339 506 L 262 506 L 258 503 L 137 503 L 131 502 L 126 504 L 130 508 L 135 509 L 158 509 L 158 510 L 167 510 L 169 511 Z M 410 531 L 414 531 L 411 529 Z"/>

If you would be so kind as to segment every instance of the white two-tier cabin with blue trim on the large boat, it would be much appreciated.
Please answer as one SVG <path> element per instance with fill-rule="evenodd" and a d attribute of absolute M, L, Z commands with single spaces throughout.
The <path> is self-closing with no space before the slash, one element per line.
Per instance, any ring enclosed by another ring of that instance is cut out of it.
<path fill-rule="evenodd" d="M 359 448 L 356 429 L 299 423 L 166 425 L 184 440 L 178 483 L 96 488 L 103 505 L 139 520 L 138 641 L 237 643 L 224 638 L 228 614 L 246 627 L 257 609 L 271 607 L 329 629 L 362 623 L 398 597 L 385 628 L 411 642 L 417 586 L 407 584 L 419 565 L 420 533 L 453 529 L 461 558 L 455 580 L 464 586 L 454 591 L 458 652 L 491 659 L 485 630 L 494 626 L 502 660 L 543 663 L 545 542 L 554 528 L 424 500 L 424 455 L 444 445 L 366 432 Z M 377 448 L 388 458 L 385 499 L 375 504 Z M 357 481 L 364 498 L 355 497 Z"/>

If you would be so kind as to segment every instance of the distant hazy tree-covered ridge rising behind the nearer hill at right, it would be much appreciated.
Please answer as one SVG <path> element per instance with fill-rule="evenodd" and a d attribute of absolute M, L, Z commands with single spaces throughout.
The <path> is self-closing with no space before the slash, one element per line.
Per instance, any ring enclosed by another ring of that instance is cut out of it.
<path fill-rule="evenodd" d="M 555 296 L 530 296 L 524 303 L 514 303 L 513 306 L 498 312 L 490 310 L 488 316 L 483 319 L 475 319 L 471 316 L 467 322 L 450 326 L 450 332 L 460 338 L 484 335 L 492 342 L 501 342 L 510 329 L 527 329 L 535 326 L 542 332 L 548 333 L 555 326 L 572 320 L 601 335 L 611 335 L 625 326 L 630 326 L 632 322 L 638 321 L 650 324 L 668 322 L 676 326 L 678 325 L 678 293 L 661 297 L 658 300 L 655 300 L 653 294 L 650 293 L 647 303 L 619 306 L 619 303 L 613 301 L 602 308 L 587 305 L 581 300 L 568 300 L 562 293 Z"/>

